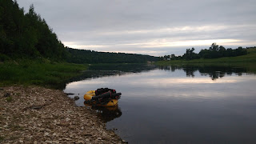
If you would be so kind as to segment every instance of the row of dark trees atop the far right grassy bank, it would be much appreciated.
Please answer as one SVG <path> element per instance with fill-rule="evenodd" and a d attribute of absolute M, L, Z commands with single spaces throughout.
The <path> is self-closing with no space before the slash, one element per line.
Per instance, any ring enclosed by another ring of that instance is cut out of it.
<path fill-rule="evenodd" d="M 160 60 L 166 60 L 170 58 L 172 60 L 175 59 L 185 59 L 185 60 L 192 60 L 197 58 L 222 58 L 222 57 L 236 57 L 240 55 L 246 55 L 247 50 L 246 48 L 242 48 L 241 46 L 237 49 L 225 48 L 224 46 L 218 46 L 216 43 L 213 43 L 209 49 L 202 49 L 197 54 L 194 52 L 194 47 L 191 49 L 186 49 L 186 53 L 182 56 L 175 56 L 174 54 L 165 55 L 160 57 Z"/>

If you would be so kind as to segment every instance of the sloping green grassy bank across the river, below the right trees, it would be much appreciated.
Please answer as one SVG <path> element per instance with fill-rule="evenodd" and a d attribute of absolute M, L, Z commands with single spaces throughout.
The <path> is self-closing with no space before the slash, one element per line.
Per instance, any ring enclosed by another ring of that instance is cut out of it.
<path fill-rule="evenodd" d="M 238 57 L 212 58 L 212 59 L 194 59 L 186 60 L 171 60 L 155 62 L 156 65 L 166 66 L 172 64 L 218 64 L 218 63 L 256 63 L 256 49 L 248 49 L 248 54 Z"/>

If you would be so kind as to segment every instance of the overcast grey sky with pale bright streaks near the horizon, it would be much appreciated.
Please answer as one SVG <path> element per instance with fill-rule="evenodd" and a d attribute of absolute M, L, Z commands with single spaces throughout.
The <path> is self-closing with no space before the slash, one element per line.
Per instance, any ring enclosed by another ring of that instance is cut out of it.
<path fill-rule="evenodd" d="M 256 46 L 255 0 L 17 0 L 31 4 L 65 46 L 76 49 L 182 55 Z"/>

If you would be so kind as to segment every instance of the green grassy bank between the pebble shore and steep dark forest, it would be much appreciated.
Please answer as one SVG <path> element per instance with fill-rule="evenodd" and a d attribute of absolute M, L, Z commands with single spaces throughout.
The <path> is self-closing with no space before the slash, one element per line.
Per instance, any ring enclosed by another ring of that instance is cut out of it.
<path fill-rule="evenodd" d="M 58 89 L 87 67 L 87 65 L 42 60 L 2 62 L 0 63 L 0 86 L 18 84 Z"/>

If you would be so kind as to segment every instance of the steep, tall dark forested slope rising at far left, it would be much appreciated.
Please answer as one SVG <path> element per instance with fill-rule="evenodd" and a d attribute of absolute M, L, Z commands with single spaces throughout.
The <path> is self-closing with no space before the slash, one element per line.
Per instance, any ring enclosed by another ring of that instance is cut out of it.
<path fill-rule="evenodd" d="M 0 1 L 0 52 L 10 58 L 65 58 L 66 49 L 34 6 L 25 14 L 18 3 Z"/>

